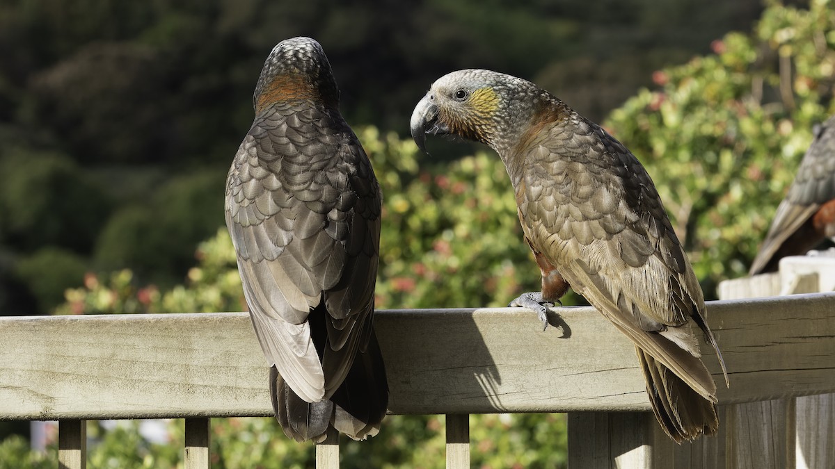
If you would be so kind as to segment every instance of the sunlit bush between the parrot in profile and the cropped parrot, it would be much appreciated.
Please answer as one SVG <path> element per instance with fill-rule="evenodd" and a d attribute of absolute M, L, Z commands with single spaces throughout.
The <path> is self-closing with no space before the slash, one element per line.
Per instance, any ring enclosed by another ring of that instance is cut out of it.
<path fill-rule="evenodd" d="M 658 186 L 706 297 L 746 275 L 812 126 L 835 113 L 835 8 L 772 3 L 753 34 L 655 73 L 607 127 Z"/>

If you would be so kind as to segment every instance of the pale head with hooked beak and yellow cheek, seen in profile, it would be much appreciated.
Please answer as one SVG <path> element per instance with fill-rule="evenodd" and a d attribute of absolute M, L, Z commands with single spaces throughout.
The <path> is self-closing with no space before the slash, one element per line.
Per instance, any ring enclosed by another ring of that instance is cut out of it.
<path fill-rule="evenodd" d="M 412 112 L 412 139 L 426 152 L 426 135 L 450 135 L 502 149 L 530 118 L 534 83 L 489 70 L 448 73 L 432 84 Z"/>

